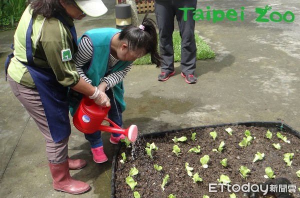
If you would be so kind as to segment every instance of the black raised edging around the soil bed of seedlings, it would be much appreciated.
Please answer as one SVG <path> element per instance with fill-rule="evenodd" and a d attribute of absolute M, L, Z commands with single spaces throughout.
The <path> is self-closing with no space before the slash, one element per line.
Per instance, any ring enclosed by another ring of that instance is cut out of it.
<path fill-rule="evenodd" d="M 156 137 L 163 135 L 165 133 L 172 133 L 176 132 L 178 130 L 189 130 L 189 129 L 203 129 L 203 128 L 216 128 L 216 127 L 222 127 L 222 126 L 236 126 L 236 125 L 245 125 L 247 127 L 249 126 L 256 126 L 256 127 L 265 127 L 265 128 L 277 128 L 279 130 L 289 132 L 290 134 L 293 134 L 300 138 L 300 132 L 296 131 L 289 125 L 282 123 L 282 122 L 275 122 L 275 121 L 242 121 L 242 122 L 231 122 L 231 123 L 220 123 L 220 124 L 210 124 L 210 125 L 201 125 L 201 126 L 192 126 L 187 128 L 177 128 L 172 130 L 166 130 L 166 131 L 157 131 L 157 132 L 151 132 L 144 135 L 141 135 L 141 137 Z M 119 154 L 119 151 L 121 149 L 122 143 L 119 142 L 117 144 L 117 148 L 114 151 L 114 155 L 112 158 L 112 167 L 111 167 L 111 198 L 115 198 L 115 171 L 116 171 L 116 164 L 117 164 L 117 156 Z"/>

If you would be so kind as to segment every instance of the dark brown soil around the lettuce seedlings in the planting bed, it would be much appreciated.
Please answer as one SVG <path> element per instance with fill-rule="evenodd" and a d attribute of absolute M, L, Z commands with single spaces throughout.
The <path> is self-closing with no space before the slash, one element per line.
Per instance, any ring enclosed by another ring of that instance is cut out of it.
<path fill-rule="evenodd" d="M 232 136 L 230 136 L 225 128 L 231 127 Z M 255 137 L 251 144 L 247 147 L 241 147 L 238 143 L 245 136 L 244 131 L 249 130 L 251 136 Z M 216 131 L 217 137 L 215 140 L 209 135 L 209 132 Z M 247 184 L 256 184 L 267 181 L 264 178 L 265 167 L 271 166 L 276 178 L 285 177 L 291 184 L 296 185 L 294 197 L 300 197 L 298 188 L 300 187 L 300 178 L 297 177 L 296 171 L 300 170 L 300 139 L 289 132 L 280 131 L 280 129 L 272 128 L 272 138 L 267 139 L 265 133 L 267 128 L 244 125 L 227 125 L 222 127 L 206 127 L 197 129 L 180 129 L 172 133 L 165 133 L 158 137 L 142 137 L 138 138 L 134 143 L 135 154 L 131 156 L 131 147 L 126 148 L 123 144 L 116 159 L 115 170 L 115 197 L 133 197 L 133 191 L 138 191 L 141 197 L 168 197 L 169 194 L 179 197 L 203 197 L 203 194 L 212 197 L 229 197 L 232 193 L 232 187 L 228 192 L 227 188 L 221 191 L 221 185 L 215 185 L 217 192 L 209 192 L 209 183 L 218 183 L 217 179 L 221 174 L 227 175 L 231 180 L 231 185 L 238 184 L 239 186 Z M 191 140 L 191 132 L 196 132 L 196 140 Z M 276 132 L 281 132 L 282 135 L 290 140 L 290 143 L 285 143 L 276 136 Z M 186 136 L 185 142 L 174 143 L 172 138 Z M 221 141 L 225 142 L 224 149 L 221 153 L 212 151 L 217 148 Z M 146 142 L 152 143 L 158 147 L 152 151 L 153 158 L 145 152 Z M 277 150 L 272 146 L 272 143 L 280 143 L 281 149 Z M 173 145 L 177 144 L 181 149 L 178 156 L 175 155 Z M 192 147 L 200 146 L 200 153 L 187 152 Z M 255 153 L 259 151 L 264 153 L 264 158 L 252 163 Z M 121 163 L 121 153 L 125 152 L 126 162 Z M 285 166 L 283 153 L 293 152 L 294 156 L 290 167 Z M 203 168 L 200 163 L 200 158 L 203 155 L 209 155 L 208 168 Z M 220 164 L 220 160 L 227 158 L 227 167 Z M 188 162 L 190 167 L 193 167 L 192 173 L 198 173 L 203 179 L 202 182 L 193 183 L 192 177 L 187 175 L 185 162 Z M 160 172 L 153 168 L 154 164 L 162 166 Z M 244 179 L 239 167 L 243 165 L 250 169 L 248 177 Z M 131 190 L 125 182 L 129 175 L 129 170 L 135 166 L 138 169 L 138 174 L 132 176 L 137 182 L 134 190 Z M 161 188 L 161 183 L 164 176 L 168 174 L 169 179 Z M 247 194 L 242 190 L 234 192 L 236 197 L 247 197 Z M 275 197 L 271 195 L 259 197 Z"/>

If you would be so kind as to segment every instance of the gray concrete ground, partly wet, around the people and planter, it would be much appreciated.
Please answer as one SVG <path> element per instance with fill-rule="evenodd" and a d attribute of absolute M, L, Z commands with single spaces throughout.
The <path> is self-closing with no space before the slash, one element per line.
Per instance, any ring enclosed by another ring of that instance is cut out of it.
<path fill-rule="evenodd" d="M 104 0 L 104 3 L 109 0 Z M 256 22 L 255 8 L 272 6 L 266 14 L 291 11 L 292 22 Z M 114 8 L 98 18 L 76 21 L 78 35 L 97 27 L 115 27 Z M 175 75 L 157 81 L 154 65 L 134 65 L 126 76 L 124 127 L 136 124 L 140 134 L 190 126 L 238 121 L 282 121 L 300 130 L 300 2 L 298 0 L 201 0 L 197 8 L 233 8 L 244 20 L 226 18 L 213 23 L 198 20 L 195 29 L 216 52 L 214 59 L 198 60 L 196 84 Z M 140 19 L 143 15 L 140 15 Z M 155 18 L 153 14 L 150 17 Z M 176 27 L 177 28 L 177 27 Z M 13 42 L 14 31 L 0 32 L 0 62 Z M 34 121 L 11 93 L 0 68 L 0 197 L 73 197 L 52 188 L 45 143 Z M 87 161 L 71 175 L 91 185 L 76 197 L 110 197 L 114 145 L 103 134 L 108 161 L 96 164 L 89 143 L 73 128 L 69 156 Z"/>

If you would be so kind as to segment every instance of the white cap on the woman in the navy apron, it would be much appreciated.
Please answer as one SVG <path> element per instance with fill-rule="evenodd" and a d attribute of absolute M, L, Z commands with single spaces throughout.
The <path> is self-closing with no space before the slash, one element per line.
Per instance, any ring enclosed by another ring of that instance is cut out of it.
<path fill-rule="evenodd" d="M 89 16 L 97 17 L 107 12 L 102 0 L 74 0 L 78 7 Z"/>

